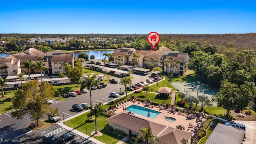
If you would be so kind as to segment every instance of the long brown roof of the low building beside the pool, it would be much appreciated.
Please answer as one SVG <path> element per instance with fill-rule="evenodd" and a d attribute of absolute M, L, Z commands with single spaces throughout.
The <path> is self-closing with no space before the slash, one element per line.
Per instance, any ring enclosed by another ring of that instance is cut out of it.
<path fill-rule="evenodd" d="M 158 124 L 156 122 L 151 122 L 148 120 L 144 120 L 142 118 L 138 118 L 136 116 L 120 112 L 108 119 L 108 122 L 112 122 L 124 128 L 128 128 L 129 130 L 138 132 L 138 129 L 151 127 L 152 134 L 154 136 L 158 136 L 161 142 L 165 142 L 166 144 L 180 144 L 183 138 L 188 140 L 192 133 L 182 131 L 179 129 L 171 128 L 168 126 L 164 126 L 162 124 Z"/>

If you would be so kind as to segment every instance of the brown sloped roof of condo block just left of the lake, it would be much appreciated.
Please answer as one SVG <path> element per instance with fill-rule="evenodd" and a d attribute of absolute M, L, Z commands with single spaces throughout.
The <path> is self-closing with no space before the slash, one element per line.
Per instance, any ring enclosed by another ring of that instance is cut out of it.
<path fill-rule="evenodd" d="M 73 53 L 60 53 L 60 54 L 52 54 L 51 62 L 72 62 L 73 61 Z"/>

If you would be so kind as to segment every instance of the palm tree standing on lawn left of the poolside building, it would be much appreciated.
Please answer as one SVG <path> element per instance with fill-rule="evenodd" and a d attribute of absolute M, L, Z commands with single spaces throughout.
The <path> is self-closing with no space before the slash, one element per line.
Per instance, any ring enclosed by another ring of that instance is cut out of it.
<path fill-rule="evenodd" d="M 95 134 L 98 134 L 98 128 L 97 128 L 97 118 L 100 116 L 100 114 L 106 113 L 106 109 L 102 108 L 102 103 L 96 104 L 94 107 L 90 107 L 91 111 L 87 115 L 87 117 L 95 116 Z"/>

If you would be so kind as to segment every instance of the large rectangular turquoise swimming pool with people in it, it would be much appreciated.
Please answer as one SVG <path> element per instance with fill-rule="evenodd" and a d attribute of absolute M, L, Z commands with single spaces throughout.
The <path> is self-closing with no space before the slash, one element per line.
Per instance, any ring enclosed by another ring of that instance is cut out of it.
<path fill-rule="evenodd" d="M 134 112 L 135 114 L 140 114 L 140 115 L 146 116 L 148 118 L 155 118 L 156 116 L 161 114 L 161 112 L 158 112 L 155 110 L 150 110 L 148 108 L 143 108 L 143 107 L 136 106 L 136 105 L 129 106 L 128 108 L 126 108 L 126 111 L 131 111 L 131 112 Z M 150 115 L 148 115 L 148 113 L 150 113 Z"/>

